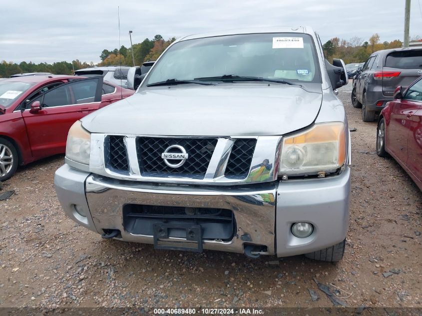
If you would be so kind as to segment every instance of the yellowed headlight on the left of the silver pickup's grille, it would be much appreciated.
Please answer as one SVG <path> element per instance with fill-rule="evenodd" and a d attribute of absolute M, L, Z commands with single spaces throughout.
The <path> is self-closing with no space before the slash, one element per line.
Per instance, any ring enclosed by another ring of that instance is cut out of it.
<path fill-rule="evenodd" d="M 66 142 L 66 157 L 70 160 L 89 165 L 91 134 L 76 121 L 69 129 Z"/>

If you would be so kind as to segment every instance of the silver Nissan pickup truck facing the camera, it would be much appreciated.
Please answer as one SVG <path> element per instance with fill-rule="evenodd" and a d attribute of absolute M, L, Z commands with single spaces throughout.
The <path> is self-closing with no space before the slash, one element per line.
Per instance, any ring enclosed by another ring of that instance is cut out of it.
<path fill-rule="evenodd" d="M 309 27 L 180 38 L 133 96 L 71 127 L 57 197 L 103 238 L 339 261 L 351 150 L 336 89 L 347 82 Z"/>

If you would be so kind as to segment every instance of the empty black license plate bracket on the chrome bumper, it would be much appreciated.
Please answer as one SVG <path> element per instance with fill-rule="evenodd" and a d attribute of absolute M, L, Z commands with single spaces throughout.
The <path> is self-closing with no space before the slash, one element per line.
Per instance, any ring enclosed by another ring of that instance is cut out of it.
<path fill-rule="evenodd" d="M 167 224 L 167 223 L 158 223 L 153 224 L 153 237 L 154 237 L 154 248 L 155 249 L 165 249 L 165 250 L 181 250 L 181 251 L 191 251 L 191 252 L 202 252 L 202 229 L 201 225 L 188 225 L 188 224 Z M 168 241 L 169 239 L 169 230 L 178 229 L 186 231 L 186 241 L 183 240 L 174 240 Z M 166 240 L 166 245 L 160 245 L 159 242 Z M 196 247 L 184 247 L 180 244 L 190 244 L 195 245 Z M 178 245 L 179 244 L 179 245 Z"/>

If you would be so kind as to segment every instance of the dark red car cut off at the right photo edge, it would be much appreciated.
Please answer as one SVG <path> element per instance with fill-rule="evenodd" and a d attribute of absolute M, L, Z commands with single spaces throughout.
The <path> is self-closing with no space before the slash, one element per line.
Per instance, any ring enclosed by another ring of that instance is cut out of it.
<path fill-rule="evenodd" d="M 381 111 L 377 154 L 390 154 L 422 191 L 422 77 L 407 89 L 397 87 Z"/>

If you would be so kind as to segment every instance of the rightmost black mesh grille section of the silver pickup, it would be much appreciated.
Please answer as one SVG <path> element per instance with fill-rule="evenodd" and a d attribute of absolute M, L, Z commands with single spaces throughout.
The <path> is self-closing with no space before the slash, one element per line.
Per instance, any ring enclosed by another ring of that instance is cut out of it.
<path fill-rule="evenodd" d="M 254 138 L 239 138 L 235 140 L 227 162 L 226 177 L 243 179 L 248 176 L 255 145 L 256 139 Z"/>

